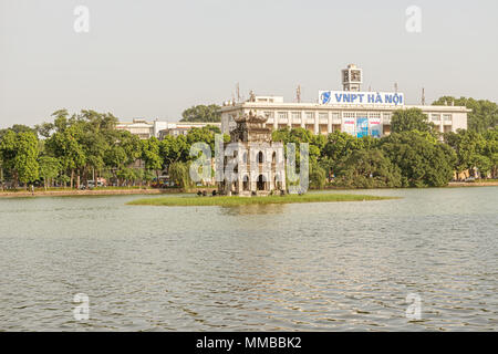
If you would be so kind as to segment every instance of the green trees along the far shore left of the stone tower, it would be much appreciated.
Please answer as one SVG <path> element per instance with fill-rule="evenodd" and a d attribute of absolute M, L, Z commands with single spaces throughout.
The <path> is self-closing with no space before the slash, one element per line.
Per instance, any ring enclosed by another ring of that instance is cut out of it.
<path fill-rule="evenodd" d="M 13 188 L 30 184 L 80 188 L 105 178 L 117 186 L 151 184 L 174 163 L 188 163 L 191 144 L 214 147 L 218 127 L 194 128 L 186 136 L 139 139 L 115 129 L 111 113 L 61 110 L 53 121 L 30 128 L 0 131 L 0 183 Z"/>

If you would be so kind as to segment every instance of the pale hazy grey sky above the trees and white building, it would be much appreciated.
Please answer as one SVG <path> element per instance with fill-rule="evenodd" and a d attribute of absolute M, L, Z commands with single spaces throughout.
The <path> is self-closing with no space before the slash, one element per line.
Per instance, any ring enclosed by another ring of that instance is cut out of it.
<path fill-rule="evenodd" d="M 73 29 L 76 6 L 90 32 Z M 422 9 L 422 33 L 405 29 Z M 177 121 L 184 108 L 247 97 L 304 101 L 340 90 L 356 63 L 363 88 L 408 103 L 440 95 L 498 101 L 498 1 L 0 0 L 0 127 L 59 108 L 123 121 Z"/>

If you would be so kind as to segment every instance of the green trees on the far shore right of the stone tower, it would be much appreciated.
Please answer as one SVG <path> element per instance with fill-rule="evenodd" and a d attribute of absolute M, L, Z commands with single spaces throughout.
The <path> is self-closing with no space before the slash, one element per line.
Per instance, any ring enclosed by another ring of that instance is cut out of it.
<path fill-rule="evenodd" d="M 310 144 L 310 185 L 318 188 L 326 176 L 335 186 L 352 188 L 440 187 L 461 171 L 498 177 L 498 128 L 440 135 L 421 110 L 413 108 L 395 112 L 391 129 L 383 138 L 357 138 L 284 128 L 273 132 L 273 139 Z"/>

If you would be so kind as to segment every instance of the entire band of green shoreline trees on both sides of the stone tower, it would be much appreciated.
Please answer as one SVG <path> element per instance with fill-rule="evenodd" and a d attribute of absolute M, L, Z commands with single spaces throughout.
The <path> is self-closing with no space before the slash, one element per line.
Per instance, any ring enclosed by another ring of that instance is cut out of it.
<path fill-rule="evenodd" d="M 53 113 L 52 122 L 34 128 L 13 125 L 0 129 L 2 188 L 30 184 L 80 188 L 100 177 L 117 186 L 142 186 L 158 179 L 165 169 L 173 181 L 187 187 L 191 184 L 189 162 L 195 158 L 189 156 L 190 146 L 204 142 L 215 152 L 215 134 L 220 133 L 208 126 L 159 142 L 117 131 L 116 123 L 111 113 L 70 115 L 61 110 Z M 372 188 L 445 186 L 455 173 L 498 177 L 497 127 L 442 135 L 421 110 L 413 108 L 395 112 L 391 129 L 383 138 L 356 138 L 341 132 L 314 135 L 304 128 L 279 129 L 272 136 L 298 146 L 309 143 L 314 188 L 322 188 L 328 179 L 336 186 Z M 298 147 L 298 166 L 299 158 Z"/>

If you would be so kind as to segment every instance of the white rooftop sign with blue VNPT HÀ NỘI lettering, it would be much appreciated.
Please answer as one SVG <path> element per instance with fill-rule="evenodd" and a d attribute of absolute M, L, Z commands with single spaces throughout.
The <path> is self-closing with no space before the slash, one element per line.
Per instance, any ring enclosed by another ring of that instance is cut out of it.
<path fill-rule="evenodd" d="M 320 91 L 320 104 L 403 106 L 405 95 L 397 92 Z"/>

